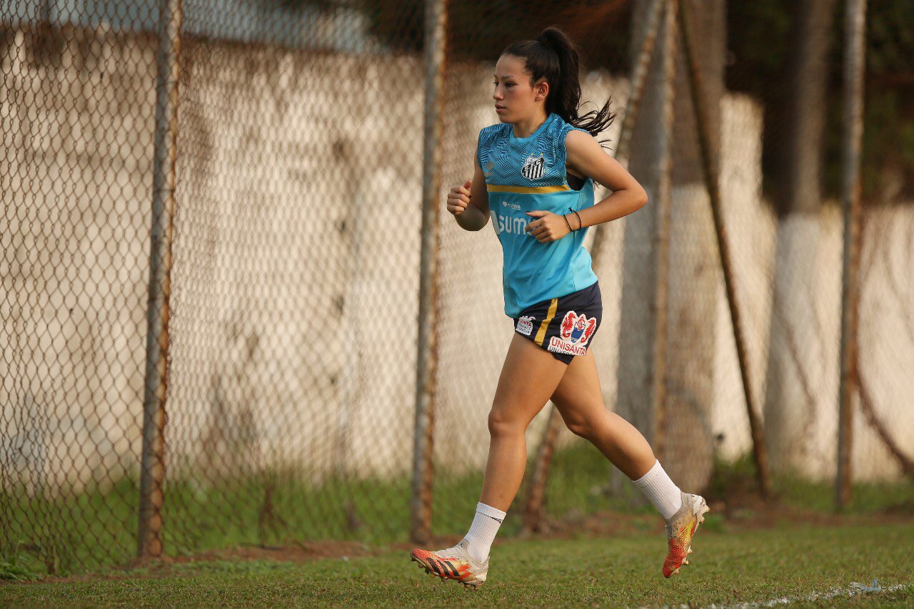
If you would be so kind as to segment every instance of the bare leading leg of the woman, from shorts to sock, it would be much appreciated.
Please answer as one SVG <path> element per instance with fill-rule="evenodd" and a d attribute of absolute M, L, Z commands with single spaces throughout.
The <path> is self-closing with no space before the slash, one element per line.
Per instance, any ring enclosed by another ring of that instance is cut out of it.
<path fill-rule="evenodd" d="M 507 511 L 526 467 L 526 428 L 543 409 L 568 364 L 514 335 L 489 413 L 489 458 L 480 502 Z"/>

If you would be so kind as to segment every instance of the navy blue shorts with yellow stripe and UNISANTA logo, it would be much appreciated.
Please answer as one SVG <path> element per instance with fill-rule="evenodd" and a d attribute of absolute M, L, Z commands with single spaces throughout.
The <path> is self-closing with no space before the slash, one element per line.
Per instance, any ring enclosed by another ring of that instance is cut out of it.
<path fill-rule="evenodd" d="M 560 362 L 571 363 L 575 355 L 587 353 L 602 318 L 603 299 L 598 282 L 522 310 L 515 319 L 515 332 L 534 341 Z"/>

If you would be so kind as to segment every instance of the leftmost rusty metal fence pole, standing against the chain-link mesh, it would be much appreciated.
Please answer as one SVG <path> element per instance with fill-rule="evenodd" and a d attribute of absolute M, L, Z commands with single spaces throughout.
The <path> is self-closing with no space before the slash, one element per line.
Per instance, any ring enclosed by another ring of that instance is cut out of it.
<path fill-rule="evenodd" d="M 155 80 L 153 223 L 149 256 L 146 379 L 143 390 L 143 453 L 140 467 L 140 528 L 137 548 L 140 558 L 162 556 L 165 394 L 168 381 L 168 316 L 175 217 L 180 50 L 181 0 L 161 0 L 158 71 Z"/>

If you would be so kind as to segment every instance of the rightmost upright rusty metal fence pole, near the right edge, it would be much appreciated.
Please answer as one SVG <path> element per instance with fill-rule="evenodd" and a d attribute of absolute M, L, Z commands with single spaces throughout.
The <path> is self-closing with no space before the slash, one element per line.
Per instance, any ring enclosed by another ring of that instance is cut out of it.
<path fill-rule="evenodd" d="M 860 146 L 863 138 L 863 71 L 866 0 L 847 0 L 845 10 L 845 107 L 841 203 L 845 215 L 841 295 L 841 383 L 838 399 L 838 464 L 834 506 L 851 500 L 854 394 L 857 380 L 857 308 L 860 296 Z"/>

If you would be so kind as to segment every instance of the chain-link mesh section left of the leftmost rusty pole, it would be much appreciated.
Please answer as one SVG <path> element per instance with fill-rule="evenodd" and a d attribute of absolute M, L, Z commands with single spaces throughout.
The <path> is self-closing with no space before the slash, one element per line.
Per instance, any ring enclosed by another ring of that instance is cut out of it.
<path fill-rule="evenodd" d="M 154 37 L 0 3 L 0 478 L 5 555 L 135 551 Z"/>

